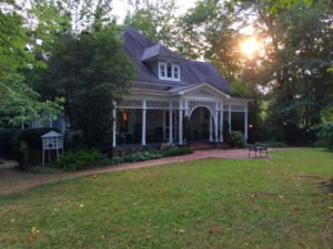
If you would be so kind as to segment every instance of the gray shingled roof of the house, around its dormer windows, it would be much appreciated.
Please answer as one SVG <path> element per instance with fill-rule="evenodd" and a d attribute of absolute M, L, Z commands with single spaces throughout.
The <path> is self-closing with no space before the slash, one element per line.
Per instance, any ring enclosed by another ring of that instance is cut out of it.
<path fill-rule="evenodd" d="M 137 66 L 134 82 L 148 82 L 174 86 L 191 86 L 209 83 L 223 92 L 226 92 L 230 89 L 230 83 L 211 63 L 186 60 L 168 48 L 152 42 L 131 28 L 127 28 L 123 35 L 124 51 Z M 145 62 L 159 58 L 169 58 L 170 60 L 180 63 L 180 82 L 159 80 L 158 75 L 150 70 Z"/>

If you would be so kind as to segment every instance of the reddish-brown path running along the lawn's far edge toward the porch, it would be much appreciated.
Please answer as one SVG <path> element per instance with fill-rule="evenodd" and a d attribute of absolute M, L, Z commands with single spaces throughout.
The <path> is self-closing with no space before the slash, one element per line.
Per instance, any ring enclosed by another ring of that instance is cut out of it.
<path fill-rule="evenodd" d="M 1 167 L 0 165 L 0 196 L 22 191 L 33 186 L 43 185 L 57 180 L 70 179 L 74 177 L 85 176 L 90 174 L 119 172 L 142 167 L 151 167 L 157 165 L 183 163 L 203 158 L 248 158 L 248 149 L 212 149 L 212 151 L 196 151 L 193 154 L 175 157 L 167 157 L 154 160 L 145 160 L 140 163 L 129 163 L 118 166 L 107 166 L 93 169 L 71 173 L 27 173 L 20 172 L 13 167 Z"/>

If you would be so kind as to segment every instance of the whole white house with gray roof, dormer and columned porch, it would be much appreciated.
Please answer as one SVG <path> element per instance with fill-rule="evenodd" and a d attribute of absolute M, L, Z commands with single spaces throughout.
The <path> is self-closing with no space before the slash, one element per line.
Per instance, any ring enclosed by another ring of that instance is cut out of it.
<path fill-rule="evenodd" d="M 211 63 L 186 60 L 133 29 L 124 31 L 124 51 L 137 74 L 130 94 L 115 103 L 113 147 L 161 142 L 181 145 L 185 116 L 192 141 L 223 142 L 223 131 L 232 129 L 232 113 L 243 115 L 248 139 L 250 100 L 230 96 L 230 83 Z"/>

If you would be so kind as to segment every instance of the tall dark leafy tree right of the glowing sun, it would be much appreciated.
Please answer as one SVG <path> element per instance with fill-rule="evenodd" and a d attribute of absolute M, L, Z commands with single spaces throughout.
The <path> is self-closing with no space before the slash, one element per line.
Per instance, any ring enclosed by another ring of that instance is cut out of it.
<path fill-rule="evenodd" d="M 274 21 L 281 34 L 272 53 L 275 60 L 268 63 L 270 71 L 275 69 L 276 81 L 272 117 L 291 139 L 302 135 L 297 131 L 306 132 L 320 123 L 321 111 L 332 105 L 333 75 L 327 73 L 333 58 L 332 27 L 326 20 L 332 20 L 332 14 L 319 1 L 311 7 L 294 6 Z"/>

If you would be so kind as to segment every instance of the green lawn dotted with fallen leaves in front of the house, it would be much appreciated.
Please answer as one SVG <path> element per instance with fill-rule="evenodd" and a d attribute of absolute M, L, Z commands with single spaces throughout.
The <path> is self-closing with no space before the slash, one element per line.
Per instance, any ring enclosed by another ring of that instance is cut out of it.
<path fill-rule="evenodd" d="M 333 154 L 205 159 L 0 197 L 0 248 L 332 248 Z"/>

